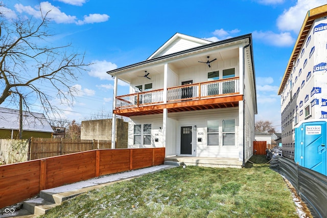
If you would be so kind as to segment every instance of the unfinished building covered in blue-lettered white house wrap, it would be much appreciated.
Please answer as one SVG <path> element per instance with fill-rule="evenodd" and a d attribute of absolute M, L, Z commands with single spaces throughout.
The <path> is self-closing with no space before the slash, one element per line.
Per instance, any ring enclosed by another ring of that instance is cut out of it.
<path fill-rule="evenodd" d="M 295 131 L 327 118 L 327 5 L 308 11 L 279 86 L 283 156 L 294 159 Z"/>

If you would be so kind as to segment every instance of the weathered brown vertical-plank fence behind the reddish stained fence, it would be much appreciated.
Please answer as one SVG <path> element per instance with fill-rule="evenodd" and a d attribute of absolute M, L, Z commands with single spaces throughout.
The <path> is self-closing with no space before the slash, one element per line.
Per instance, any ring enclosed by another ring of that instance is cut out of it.
<path fill-rule="evenodd" d="M 110 149 L 109 140 L 31 138 L 30 160 L 67 155 L 93 149 Z"/>

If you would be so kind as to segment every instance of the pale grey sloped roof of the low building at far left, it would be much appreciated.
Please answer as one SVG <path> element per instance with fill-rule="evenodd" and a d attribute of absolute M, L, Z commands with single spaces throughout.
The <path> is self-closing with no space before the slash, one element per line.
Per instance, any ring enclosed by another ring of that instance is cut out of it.
<path fill-rule="evenodd" d="M 23 130 L 34 132 L 53 133 L 53 129 L 41 113 L 22 112 Z M 19 129 L 19 111 L 0 107 L 0 129 Z"/>

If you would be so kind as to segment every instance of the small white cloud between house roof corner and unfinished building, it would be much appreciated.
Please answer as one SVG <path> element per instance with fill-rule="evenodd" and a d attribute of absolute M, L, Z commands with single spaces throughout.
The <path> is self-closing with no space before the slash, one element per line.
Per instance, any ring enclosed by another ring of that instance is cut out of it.
<path fill-rule="evenodd" d="M 267 32 L 254 31 L 252 35 L 253 38 L 255 39 L 264 41 L 268 45 L 278 46 L 278 47 L 293 46 L 295 41 L 295 39 L 291 36 L 291 33 L 289 32 L 277 34 L 271 31 L 267 31 Z"/>

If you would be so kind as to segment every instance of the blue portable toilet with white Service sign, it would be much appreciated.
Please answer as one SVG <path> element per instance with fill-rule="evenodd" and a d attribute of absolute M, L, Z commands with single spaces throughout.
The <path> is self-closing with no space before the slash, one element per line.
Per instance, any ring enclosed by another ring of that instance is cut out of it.
<path fill-rule="evenodd" d="M 327 176 L 325 119 L 305 120 L 295 126 L 294 161 Z"/>

